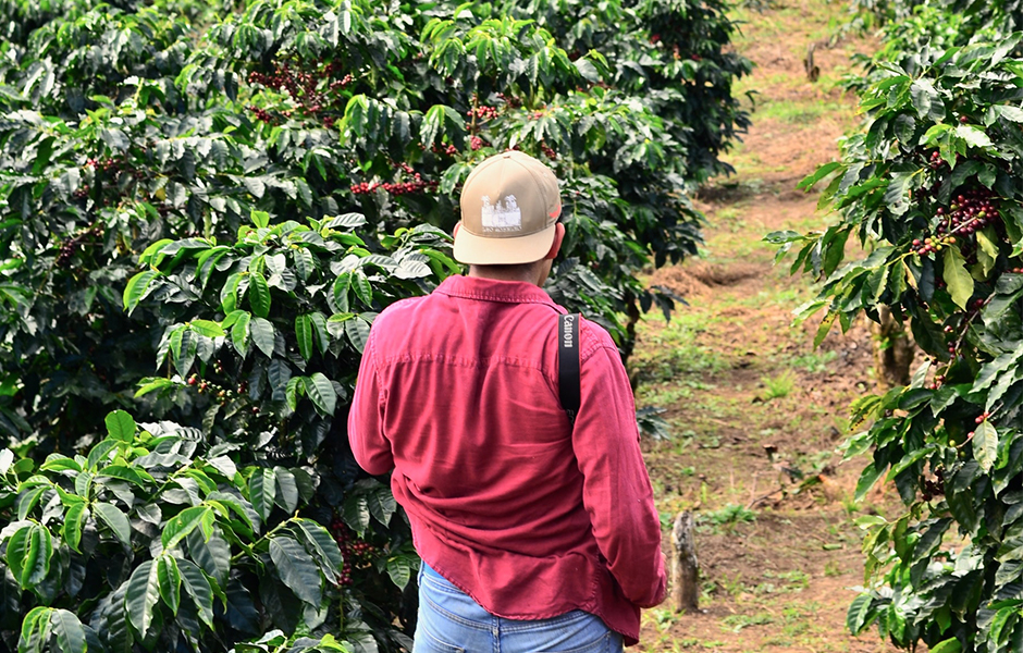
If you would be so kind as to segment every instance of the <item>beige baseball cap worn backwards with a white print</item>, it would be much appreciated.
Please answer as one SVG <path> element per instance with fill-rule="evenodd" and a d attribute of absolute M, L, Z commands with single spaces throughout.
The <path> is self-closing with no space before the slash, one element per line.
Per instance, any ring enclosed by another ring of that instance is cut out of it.
<path fill-rule="evenodd" d="M 560 214 L 554 171 L 516 150 L 489 157 L 461 188 L 455 259 L 478 266 L 539 261 L 554 244 Z"/>

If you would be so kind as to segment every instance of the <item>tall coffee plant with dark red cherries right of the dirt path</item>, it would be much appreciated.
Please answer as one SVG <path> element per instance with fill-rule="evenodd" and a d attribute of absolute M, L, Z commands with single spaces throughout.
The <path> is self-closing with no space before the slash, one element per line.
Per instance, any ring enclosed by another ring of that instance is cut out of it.
<path fill-rule="evenodd" d="M 768 238 L 823 280 L 801 310 L 834 323 L 887 307 L 927 360 L 907 386 L 853 404 L 847 456 L 873 448 L 856 496 L 891 481 L 903 515 L 860 519 L 866 588 L 848 625 L 913 650 L 1023 646 L 1023 35 L 886 64 L 863 130 L 827 181 L 822 232 Z M 859 239 L 865 256 L 847 260 Z M 953 528 L 954 527 L 954 528 Z"/>

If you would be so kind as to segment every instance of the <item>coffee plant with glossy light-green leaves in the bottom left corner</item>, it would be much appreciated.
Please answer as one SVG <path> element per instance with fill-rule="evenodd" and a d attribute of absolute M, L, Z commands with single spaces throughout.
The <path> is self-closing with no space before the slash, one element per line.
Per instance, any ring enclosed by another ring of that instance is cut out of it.
<path fill-rule="evenodd" d="M 38 467 L 0 449 L 7 650 L 214 651 L 324 627 L 344 563 L 295 516 L 316 492 L 308 468 L 238 467 L 241 445 L 123 410 L 106 422 L 86 453 Z M 326 636 L 307 650 L 347 649 Z"/>

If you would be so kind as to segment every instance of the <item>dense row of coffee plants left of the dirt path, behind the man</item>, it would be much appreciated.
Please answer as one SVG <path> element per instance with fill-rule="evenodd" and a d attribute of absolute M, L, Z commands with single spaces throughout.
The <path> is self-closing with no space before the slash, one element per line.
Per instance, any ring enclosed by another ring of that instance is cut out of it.
<path fill-rule="evenodd" d="M 408 648 L 344 429 L 370 324 L 516 148 L 563 182 L 549 291 L 628 356 L 748 125 L 724 10 L 0 2 L 0 648 Z"/>

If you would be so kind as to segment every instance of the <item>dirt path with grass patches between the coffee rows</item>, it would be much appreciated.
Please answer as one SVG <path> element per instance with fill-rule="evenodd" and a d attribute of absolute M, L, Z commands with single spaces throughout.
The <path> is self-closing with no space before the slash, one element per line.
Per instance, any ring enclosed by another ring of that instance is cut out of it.
<path fill-rule="evenodd" d="M 870 333 L 831 335 L 815 352 L 815 320 L 790 328 L 811 280 L 775 267 L 761 241 L 825 220 L 816 197 L 794 187 L 855 124 L 854 98 L 837 83 L 853 52 L 873 50 L 824 45 L 842 11 L 788 0 L 742 12 L 736 47 L 757 67 L 739 91 L 756 91 L 754 127 L 727 157 L 737 175 L 701 193 L 711 224 L 701 260 L 651 279 L 690 303 L 670 323 L 644 320 L 632 366 L 639 405 L 665 408 L 671 424 L 670 439 L 645 444 L 665 532 L 679 510 L 698 513 L 703 611 L 646 611 L 640 651 L 895 651 L 874 631 L 845 629 L 850 588 L 863 581 L 852 519 L 892 505 L 883 495 L 856 504 L 863 461 L 841 465 L 836 451 L 849 403 L 874 385 Z M 803 70 L 811 42 L 816 83 Z"/>

